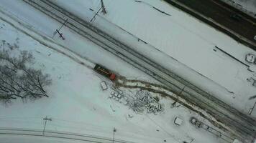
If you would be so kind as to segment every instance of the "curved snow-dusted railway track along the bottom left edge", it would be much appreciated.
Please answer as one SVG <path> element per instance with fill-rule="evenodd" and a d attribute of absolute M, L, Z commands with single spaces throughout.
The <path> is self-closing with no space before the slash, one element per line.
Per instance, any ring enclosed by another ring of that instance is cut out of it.
<path fill-rule="evenodd" d="M 82 142 L 94 142 L 94 143 L 112 143 L 112 138 L 107 137 L 99 137 L 99 136 L 92 136 L 88 134 L 77 134 L 71 132 L 57 132 L 51 130 L 45 130 L 42 133 L 42 130 L 39 129 L 13 129 L 13 128 L 1 128 L 0 129 L 0 136 L 1 135 L 22 135 L 22 136 L 33 136 L 33 137 L 53 137 L 58 139 L 71 139 L 77 140 Z M 134 143 L 134 142 L 127 142 L 122 139 L 114 139 L 114 142 L 119 143 Z"/>

